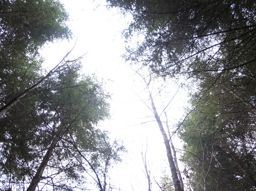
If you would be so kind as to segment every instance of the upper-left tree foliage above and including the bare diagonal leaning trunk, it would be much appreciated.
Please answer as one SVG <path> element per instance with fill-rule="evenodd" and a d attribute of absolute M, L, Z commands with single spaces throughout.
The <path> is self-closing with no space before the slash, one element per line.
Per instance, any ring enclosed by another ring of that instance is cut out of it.
<path fill-rule="evenodd" d="M 60 69 L 59 64 L 44 77 L 43 59 L 37 50 L 44 43 L 69 39 L 71 31 L 66 25 L 67 20 L 68 14 L 58 1 L 0 2 L 1 112 L 25 89 L 34 87 Z"/>

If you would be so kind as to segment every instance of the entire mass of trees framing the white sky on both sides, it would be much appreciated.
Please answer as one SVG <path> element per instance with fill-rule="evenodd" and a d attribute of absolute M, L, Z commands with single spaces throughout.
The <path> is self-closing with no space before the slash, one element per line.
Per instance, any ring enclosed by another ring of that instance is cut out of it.
<path fill-rule="evenodd" d="M 256 2 L 107 4 L 133 18 L 123 31 L 123 57 L 144 80 L 164 138 L 171 176 L 163 175 L 166 187 L 159 188 L 256 190 Z M 72 38 L 68 20 L 58 0 L 0 0 L 1 191 L 113 189 L 108 172 L 124 147 L 97 126 L 110 117 L 109 93 L 97 77 L 81 73 L 82 56 L 70 59 L 69 52 L 52 69 L 42 67 L 43 45 Z M 157 78 L 182 81 L 189 93 L 184 116 L 168 134 L 161 122 L 168 105 L 158 114 L 152 94 Z M 172 157 L 176 134 L 182 176 Z M 143 163 L 150 190 L 146 154 Z"/>

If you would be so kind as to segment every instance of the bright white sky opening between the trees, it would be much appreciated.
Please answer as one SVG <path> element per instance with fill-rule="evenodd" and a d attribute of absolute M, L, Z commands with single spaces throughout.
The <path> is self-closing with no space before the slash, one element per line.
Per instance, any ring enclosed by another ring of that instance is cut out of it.
<path fill-rule="evenodd" d="M 112 119 L 103 122 L 101 126 L 111 131 L 111 137 L 123 140 L 128 150 L 127 154 L 123 155 L 123 163 L 114 167 L 111 172 L 113 186 L 122 191 L 146 191 L 147 179 L 143 173 L 141 157 L 146 144 L 148 144 L 147 160 L 152 183 L 155 182 L 154 177 L 159 181 L 161 171 L 168 165 L 157 122 L 139 125 L 152 120 L 152 118 L 145 118 L 152 116 L 152 113 L 139 98 L 140 96 L 143 100 L 147 99 L 143 91 L 143 83 L 134 75 L 129 63 L 121 59 L 121 55 L 125 53 L 121 31 L 127 27 L 129 18 L 124 18 L 114 9 L 107 10 L 104 1 L 60 0 L 60 2 L 65 4 L 69 12 L 69 27 L 74 36 L 69 42 L 45 45 L 42 50 L 45 63 L 52 68 L 72 49 L 75 41 L 77 43 L 72 55 L 78 57 L 87 53 L 83 59 L 84 72 L 95 73 L 99 80 L 107 81 L 106 89 L 113 94 Z M 166 95 L 167 102 L 176 91 L 173 85 L 168 86 L 172 91 Z M 171 109 L 168 111 L 170 123 L 182 115 L 182 107 L 178 107 L 184 105 L 182 101 L 184 96 L 181 95 L 179 93 L 170 105 Z M 159 189 L 154 185 L 153 190 Z"/>

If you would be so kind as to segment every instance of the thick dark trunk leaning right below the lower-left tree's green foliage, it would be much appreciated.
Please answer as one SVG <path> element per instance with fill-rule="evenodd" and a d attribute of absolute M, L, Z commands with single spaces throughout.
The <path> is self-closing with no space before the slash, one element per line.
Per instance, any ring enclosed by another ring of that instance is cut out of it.
<path fill-rule="evenodd" d="M 58 136 L 56 136 L 53 139 L 52 144 L 50 145 L 46 154 L 44 155 L 44 158 L 42 159 L 42 162 L 40 163 L 40 166 L 38 167 L 34 177 L 32 178 L 32 181 L 30 182 L 30 185 L 29 185 L 27 191 L 35 191 L 39 181 L 42 178 L 42 173 L 44 172 L 44 168 L 46 167 L 50 157 L 52 156 L 52 151 L 55 148 L 59 139 L 60 138 Z"/>

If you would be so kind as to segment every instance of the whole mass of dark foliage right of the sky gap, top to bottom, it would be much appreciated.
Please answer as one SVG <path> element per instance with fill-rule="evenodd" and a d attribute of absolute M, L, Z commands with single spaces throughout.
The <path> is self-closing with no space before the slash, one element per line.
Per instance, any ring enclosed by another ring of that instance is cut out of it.
<path fill-rule="evenodd" d="M 107 2 L 133 17 L 123 32 L 126 61 L 190 81 L 177 124 L 187 190 L 255 190 L 256 2 Z"/>

